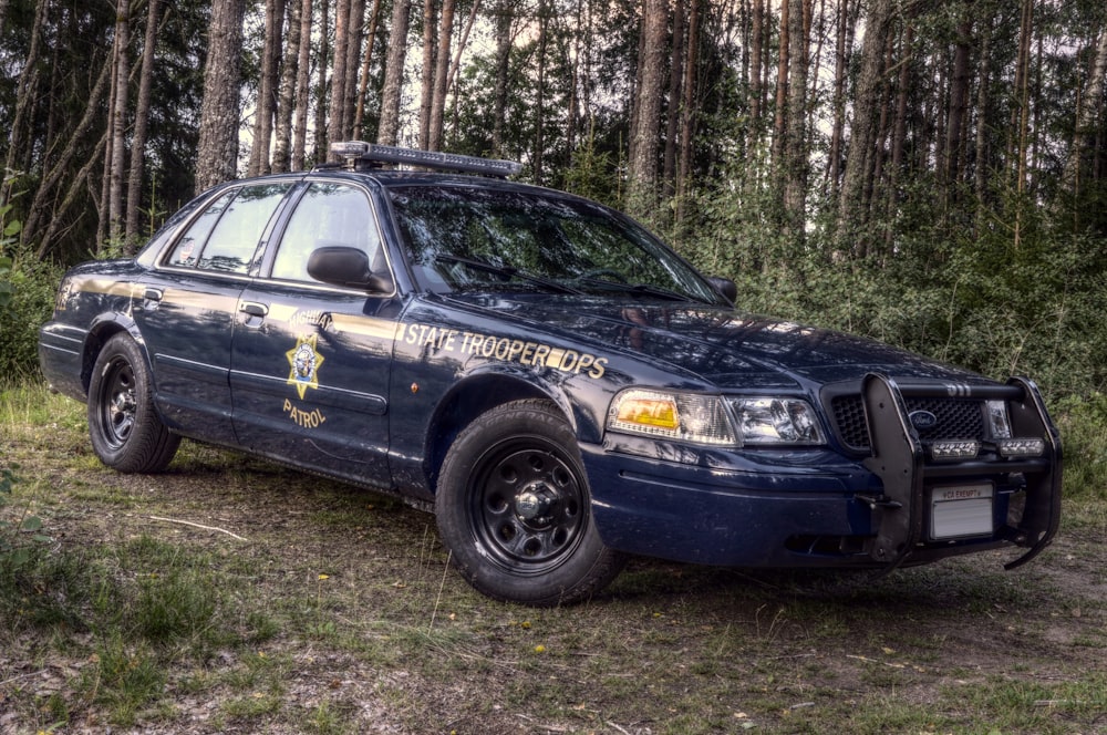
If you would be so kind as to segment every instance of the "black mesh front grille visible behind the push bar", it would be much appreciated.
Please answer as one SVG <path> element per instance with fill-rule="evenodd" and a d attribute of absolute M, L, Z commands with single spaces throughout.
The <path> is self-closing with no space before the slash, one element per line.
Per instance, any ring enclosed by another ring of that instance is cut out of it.
<path fill-rule="evenodd" d="M 984 412 L 975 398 L 912 398 L 904 397 L 908 412 L 929 411 L 938 416 L 931 428 L 919 432 L 919 438 L 929 439 L 983 439 Z M 865 423 L 865 406 L 860 395 L 836 395 L 830 401 L 838 437 L 846 446 L 858 452 L 869 451 L 869 429 Z"/>

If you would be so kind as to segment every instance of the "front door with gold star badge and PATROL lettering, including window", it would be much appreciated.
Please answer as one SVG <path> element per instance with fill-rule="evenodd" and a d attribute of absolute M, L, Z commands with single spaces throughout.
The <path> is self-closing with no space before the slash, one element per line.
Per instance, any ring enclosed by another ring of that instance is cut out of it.
<path fill-rule="evenodd" d="M 308 184 L 259 278 L 241 294 L 231 358 L 234 423 L 252 451 L 389 487 L 389 383 L 401 303 L 373 206 L 349 182 Z M 363 250 L 387 292 L 321 283 L 320 247 Z"/>

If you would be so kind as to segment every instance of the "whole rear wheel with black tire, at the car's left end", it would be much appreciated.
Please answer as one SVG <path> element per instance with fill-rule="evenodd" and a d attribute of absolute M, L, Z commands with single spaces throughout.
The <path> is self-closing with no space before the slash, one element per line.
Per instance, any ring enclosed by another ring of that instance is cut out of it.
<path fill-rule="evenodd" d="M 107 340 L 96 355 L 89 385 L 92 448 L 121 473 L 166 468 L 180 444 L 154 410 L 153 386 L 142 350 L 130 334 Z"/>

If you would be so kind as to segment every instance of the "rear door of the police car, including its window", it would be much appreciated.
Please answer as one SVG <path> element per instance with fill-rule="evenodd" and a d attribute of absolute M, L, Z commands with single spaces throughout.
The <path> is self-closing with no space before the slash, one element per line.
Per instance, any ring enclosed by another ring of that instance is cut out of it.
<path fill-rule="evenodd" d="M 134 319 L 153 362 L 155 400 L 174 429 L 235 443 L 228 375 L 239 297 L 291 187 L 269 182 L 216 196 L 138 284 Z"/>

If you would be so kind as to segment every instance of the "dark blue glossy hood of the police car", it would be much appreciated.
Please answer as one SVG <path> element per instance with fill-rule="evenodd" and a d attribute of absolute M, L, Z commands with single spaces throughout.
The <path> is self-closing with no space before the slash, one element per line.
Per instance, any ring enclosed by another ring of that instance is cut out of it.
<path fill-rule="evenodd" d="M 456 297 L 455 297 L 456 298 Z M 597 354 L 637 358 L 718 387 L 819 385 L 880 372 L 900 379 L 980 382 L 975 373 L 875 340 L 735 309 L 581 297 L 466 296 L 495 312 Z"/>

